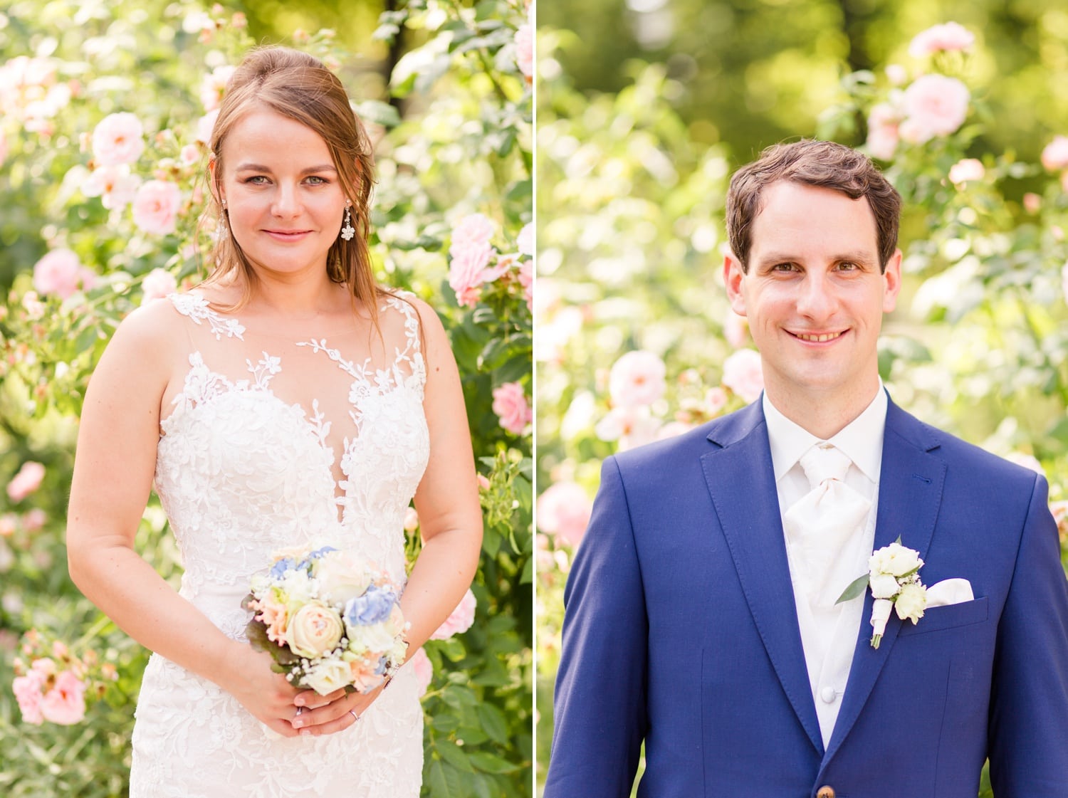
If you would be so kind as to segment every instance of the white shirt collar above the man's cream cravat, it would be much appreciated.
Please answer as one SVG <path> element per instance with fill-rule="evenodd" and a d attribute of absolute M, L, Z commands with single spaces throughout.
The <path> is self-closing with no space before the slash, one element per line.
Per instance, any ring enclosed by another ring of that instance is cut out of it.
<path fill-rule="evenodd" d="M 802 454 L 823 440 L 783 416 L 771 404 L 767 393 L 761 397 L 761 403 L 768 424 L 768 442 L 771 444 L 771 465 L 775 482 L 779 482 L 801 459 Z M 882 470 L 886 404 L 886 391 L 880 378 L 879 390 L 864 411 L 827 441 L 841 449 L 875 484 L 879 484 L 879 473 Z"/>

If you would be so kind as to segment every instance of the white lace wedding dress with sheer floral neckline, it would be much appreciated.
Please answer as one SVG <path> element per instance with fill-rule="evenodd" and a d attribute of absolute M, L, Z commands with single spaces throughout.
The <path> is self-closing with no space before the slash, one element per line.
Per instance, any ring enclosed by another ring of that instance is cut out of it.
<path fill-rule="evenodd" d="M 244 640 L 241 598 L 278 549 L 305 542 L 352 549 L 403 583 L 404 517 L 429 453 L 412 306 L 382 300 L 383 357 L 357 363 L 324 338 L 246 330 L 197 292 L 170 300 L 188 322 L 190 367 L 169 414 L 164 408 L 156 490 L 182 551 L 182 595 Z M 366 337 L 335 332 L 349 351 L 375 351 Z M 130 796 L 415 798 L 423 764 L 415 689 L 411 668 L 403 668 L 351 727 L 285 738 L 215 684 L 153 655 L 138 701 Z"/>

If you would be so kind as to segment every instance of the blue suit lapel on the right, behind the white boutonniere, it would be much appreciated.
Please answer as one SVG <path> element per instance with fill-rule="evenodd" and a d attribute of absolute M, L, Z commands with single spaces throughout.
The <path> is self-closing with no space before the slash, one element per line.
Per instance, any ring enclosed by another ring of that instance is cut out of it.
<path fill-rule="evenodd" d="M 879 476 L 879 508 L 876 517 L 875 548 L 888 546 L 900 536 L 901 545 L 927 558 L 934 522 L 942 502 L 945 464 L 931 450 L 938 442 L 926 427 L 904 410 L 890 403 L 886 409 L 886 431 L 883 436 L 882 470 Z M 921 577 L 923 572 L 921 570 Z M 871 694 L 883 664 L 894 650 L 901 621 L 891 613 L 886 631 L 878 648 L 870 645 L 871 592 L 864 598 L 861 621 L 849 682 L 842 700 L 842 710 L 834 724 L 824 765 L 849 734 L 864 704 Z"/>

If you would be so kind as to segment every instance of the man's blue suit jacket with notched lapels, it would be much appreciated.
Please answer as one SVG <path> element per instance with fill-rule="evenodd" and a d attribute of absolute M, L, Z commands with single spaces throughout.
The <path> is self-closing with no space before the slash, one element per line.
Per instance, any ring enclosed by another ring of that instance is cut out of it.
<path fill-rule="evenodd" d="M 1068 581 L 1046 481 L 891 403 L 875 546 L 975 600 L 867 595 L 823 750 L 760 403 L 606 460 L 565 593 L 545 798 L 1068 796 Z M 859 575 L 858 575 L 859 576 Z"/>

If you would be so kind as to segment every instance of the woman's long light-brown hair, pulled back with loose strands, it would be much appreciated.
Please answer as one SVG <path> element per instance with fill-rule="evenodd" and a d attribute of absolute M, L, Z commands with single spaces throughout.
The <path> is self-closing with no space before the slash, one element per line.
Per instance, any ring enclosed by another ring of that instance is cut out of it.
<path fill-rule="evenodd" d="M 377 327 L 377 298 L 384 292 L 375 282 L 367 250 L 371 190 L 374 185 L 374 157 L 371 141 L 349 105 L 348 94 L 337 77 L 313 56 L 288 47 L 264 47 L 252 50 L 234 72 L 219 106 L 209 146 L 214 167 L 209 173 L 211 201 L 206 214 L 222 225 L 211 252 L 215 269 L 205 284 L 223 281 L 240 272 L 244 304 L 251 296 L 255 272 L 240 245 L 230 234 L 227 210 L 222 195 L 222 144 L 229 132 L 246 114 L 268 108 L 318 134 L 330 151 L 345 197 L 351 201 L 356 235 L 348 241 L 337 238 L 327 253 L 327 273 L 344 283 L 360 300 Z"/>

